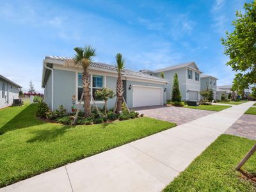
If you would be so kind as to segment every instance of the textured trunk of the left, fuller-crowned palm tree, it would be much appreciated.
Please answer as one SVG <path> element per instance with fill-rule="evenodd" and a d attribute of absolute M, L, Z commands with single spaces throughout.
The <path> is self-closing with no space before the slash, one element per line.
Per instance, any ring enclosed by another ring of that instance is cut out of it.
<path fill-rule="evenodd" d="M 90 94 L 90 83 L 91 83 L 91 77 L 87 70 L 84 70 L 83 76 L 83 90 L 84 90 L 84 116 L 90 116 L 91 115 L 91 94 Z"/>

